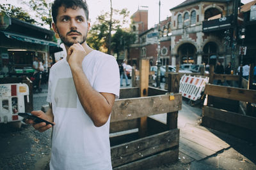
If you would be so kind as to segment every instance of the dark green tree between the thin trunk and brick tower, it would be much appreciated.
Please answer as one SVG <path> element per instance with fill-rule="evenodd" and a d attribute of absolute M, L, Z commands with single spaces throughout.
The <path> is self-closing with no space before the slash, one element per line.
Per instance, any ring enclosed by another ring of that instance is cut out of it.
<path fill-rule="evenodd" d="M 135 34 L 132 32 L 127 32 L 122 29 L 118 29 L 112 37 L 111 47 L 113 52 L 117 54 L 117 59 L 119 59 L 119 53 L 125 49 L 129 52 L 129 46 L 134 43 L 136 39 Z"/>

